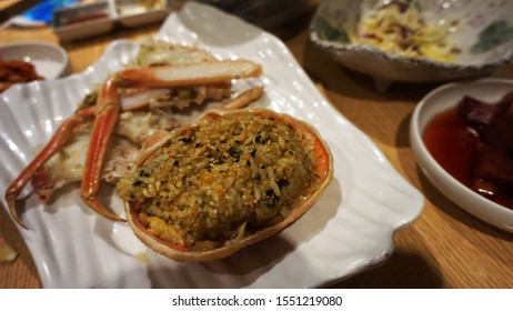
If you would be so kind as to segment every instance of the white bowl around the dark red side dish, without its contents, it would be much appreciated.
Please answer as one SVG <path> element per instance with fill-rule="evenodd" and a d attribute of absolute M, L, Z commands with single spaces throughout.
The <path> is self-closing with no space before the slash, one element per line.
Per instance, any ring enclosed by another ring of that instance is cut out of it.
<path fill-rule="evenodd" d="M 485 102 L 496 102 L 511 91 L 513 91 L 513 80 L 504 79 L 482 79 L 440 87 L 425 96 L 416 106 L 410 123 L 410 141 L 420 168 L 441 192 L 481 220 L 513 232 L 513 210 L 477 194 L 449 174 L 430 154 L 422 140 L 423 132 L 433 117 L 455 107 L 464 96 Z"/>

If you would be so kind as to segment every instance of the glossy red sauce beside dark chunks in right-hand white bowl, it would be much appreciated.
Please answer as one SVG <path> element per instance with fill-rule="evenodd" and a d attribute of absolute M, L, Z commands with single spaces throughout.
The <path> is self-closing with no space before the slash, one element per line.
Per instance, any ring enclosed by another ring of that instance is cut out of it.
<path fill-rule="evenodd" d="M 513 109 L 513 104 L 511 107 Z M 423 141 L 431 156 L 453 178 L 476 193 L 513 210 L 512 184 L 494 187 L 494 191 L 479 187 L 482 183 L 481 178 L 476 177 L 479 170 L 476 167 L 482 165 L 479 163 L 479 157 L 482 157 L 479 149 L 485 142 L 482 141 L 481 132 L 475 127 L 469 126 L 469 120 L 462 117 L 459 107 L 436 114 L 425 128 Z M 510 150 L 504 151 L 504 154 L 513 161 Z M 492 163 L 486 165 L 495 165 L 495 162 L 492 160 Z M 505 169 L 500 170 L 503 172 Z"/>

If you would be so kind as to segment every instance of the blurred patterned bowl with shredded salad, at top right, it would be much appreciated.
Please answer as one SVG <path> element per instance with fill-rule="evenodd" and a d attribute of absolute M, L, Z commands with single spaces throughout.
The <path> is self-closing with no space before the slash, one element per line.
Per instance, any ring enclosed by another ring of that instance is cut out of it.
<path fill-rule="evenodd" d="M 500 0 L 324 0 L 310 40 L 384 91 L 490 73 L 512 58 L 512 16 Z"/>

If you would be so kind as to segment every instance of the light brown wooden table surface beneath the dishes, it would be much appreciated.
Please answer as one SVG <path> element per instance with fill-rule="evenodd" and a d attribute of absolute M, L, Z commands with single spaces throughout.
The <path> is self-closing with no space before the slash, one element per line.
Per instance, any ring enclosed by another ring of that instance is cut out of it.
<path fill-rule="evenodd" d="M 365 132 L 393 167 L 425 195 L 425 209 L 413 225 L 394 235 L 395 252 L 382 265 L 334 284 L 335 288 L 513 288 L 513 233 L 501 231 L 464 212 L 426 180 L 416 165 L 408 129 L 415 103 L 436 84 L 393 84 L 386 94 L 374 91 L 371 79 L 336 66 L 308 44 L 309 18 L 274 30 L 311 79 L 321 84 L 332 104 Z M 72 72 L 92 64 L 117 39 L 152 36 L 160 24 L 77 42 L 60 42 Z M 0 42 L 44 40 L 59 43 L 49 28 L 3 29 Z M 507 64 L 493 77 L 512 78 Z M 17 228 L 0 208 L 0 248 L 12 245 L 19 257 L 0 264 L 0 288 L 40 288 L 33 260 Z"/>

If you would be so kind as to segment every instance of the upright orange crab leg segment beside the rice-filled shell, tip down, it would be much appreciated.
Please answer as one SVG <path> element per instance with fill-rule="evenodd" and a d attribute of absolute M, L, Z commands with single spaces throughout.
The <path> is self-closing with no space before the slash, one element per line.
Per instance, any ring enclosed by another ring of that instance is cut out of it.
<path fill-rule="evenodd" d="M 109 79 L 103 84 L 98 98 L 94 124 L 83 168 L 81 195 L 86 203 L 99 214 L 115 221 L 123 221 L 122 218 L 103 207 L 98 199 L 107 147 L 120 113 L 115 87 L 115 81 Z"/>

